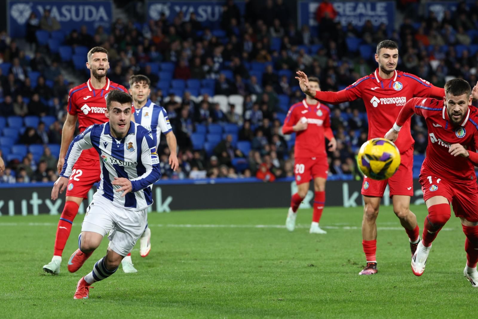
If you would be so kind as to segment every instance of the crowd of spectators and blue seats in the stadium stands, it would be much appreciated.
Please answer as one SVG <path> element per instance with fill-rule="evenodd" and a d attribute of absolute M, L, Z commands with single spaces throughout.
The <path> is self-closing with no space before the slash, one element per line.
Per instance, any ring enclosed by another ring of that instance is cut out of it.
<path fill-rule="evenodd" d="M 294 137 L 284 136 L 281 126 L 288 108 L 304 98 L 295 71 L 318 76 L 322 91 L 344 89 L 374 71 L 374 46 L 384 39 L 399 44 L 401 71 L 439 87 L 448 76 L 477 82 L 478 5 L 461 3 L 441 20 L 433 12 L 405 18 L 389 33 L 370 21 L 361 30 L 341 25 L 323 1 L 314 36 L 307 25 L 297 29 L 282 0 L 267 0 L 259 10 L 252 2 L 241 15 L 228 0 L 220 29 L 180 12 L 172 22 L 164 15 L 144 24 L 118 19 L 109 33 L 98 27 L 88 34 L 85 26 L 65 35 L 45 10 L 27 22 L 30 48 L 0 32 L 0 155 L 8 164 L 0 182 L 56 180 L 68 91 L 87 80 L 85 50 L 93 46 L 109 51 L 113 82 L 128 87 L 132 74 L 151 79 L 151 100 L 166 109 L 179 146 L 180 169 L 173 172 L 162 141 L 163 179 L 292 177 Z M 75 72 L 77 81 L 65 81 L 65 71 Z M 329 154 L 330 175 L 359 178 L 355 154 L 368 132 L 361 100 L 332 107 L 331 125 L 337 151 Z M 423 156 L 424 123 L 414 117 L 412 129 L 415 154 Z"/>

